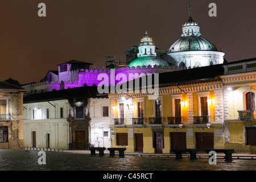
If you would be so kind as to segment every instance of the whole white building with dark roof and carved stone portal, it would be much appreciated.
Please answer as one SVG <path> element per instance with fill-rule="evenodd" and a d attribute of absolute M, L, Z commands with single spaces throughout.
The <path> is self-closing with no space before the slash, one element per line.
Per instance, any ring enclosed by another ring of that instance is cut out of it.
<path fill-rule="evenodd" d="M 31 94 L 24 97 L 23 107 L 25 147 L 110 147 L 109 100 L 98 95 L 96 86 Z"/>

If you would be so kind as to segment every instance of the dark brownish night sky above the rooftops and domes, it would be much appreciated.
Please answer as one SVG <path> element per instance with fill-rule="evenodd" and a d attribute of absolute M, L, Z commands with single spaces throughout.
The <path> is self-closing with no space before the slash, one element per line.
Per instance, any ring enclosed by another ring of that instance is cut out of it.
<path fill-rule="evenodd" d="M 46 4 L 46 17 L 38 4 Z M 125 60 L 144 32 L 166 50 L 188 20 L 184 0 L 0 0 L 0 80 L 38 82 L 57 64 L 69 60 L 105 67 L 105 56 Z M 256 57 L 255 0 L 194 0 L 192 18 L 201 36 L 237 61 Z M 209 3 L 217 5 L 210 17 Z"/>

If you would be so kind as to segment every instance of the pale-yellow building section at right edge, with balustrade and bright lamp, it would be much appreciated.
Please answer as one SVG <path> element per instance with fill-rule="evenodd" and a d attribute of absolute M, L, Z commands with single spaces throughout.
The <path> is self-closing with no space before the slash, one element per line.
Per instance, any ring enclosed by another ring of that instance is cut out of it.
<path fill-rule="evenodd" d="M 223 65 L 225 147 L 256 153 L 256 58 Z"/>

